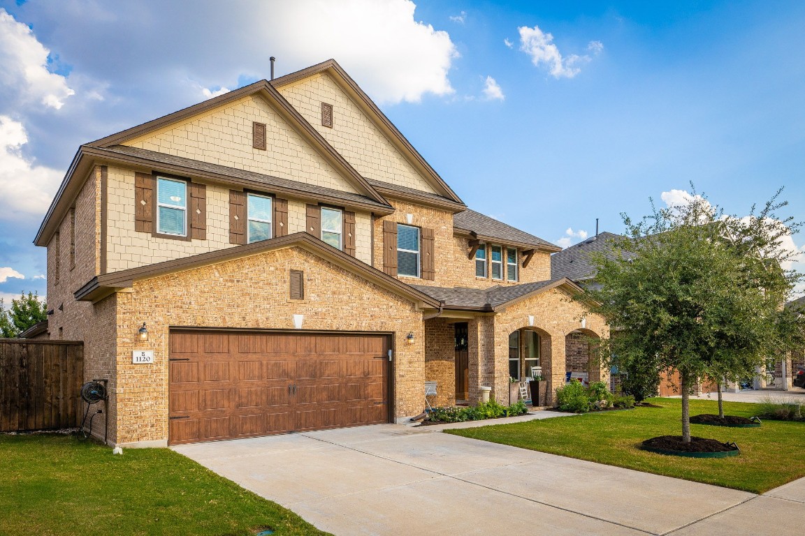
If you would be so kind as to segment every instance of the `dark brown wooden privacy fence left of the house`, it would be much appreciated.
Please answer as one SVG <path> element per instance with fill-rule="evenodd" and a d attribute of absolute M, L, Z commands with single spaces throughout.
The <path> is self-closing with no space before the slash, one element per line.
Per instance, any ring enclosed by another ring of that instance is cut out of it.
<path fill-rule="evenodd" d="M 0 432 L 80 424 L 84 344 L 0 339 Z"/>

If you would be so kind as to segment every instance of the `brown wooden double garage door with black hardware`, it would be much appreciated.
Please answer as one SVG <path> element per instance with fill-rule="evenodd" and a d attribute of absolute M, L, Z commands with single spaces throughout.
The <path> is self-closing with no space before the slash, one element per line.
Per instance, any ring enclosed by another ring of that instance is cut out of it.
<path fill-rule="evenodd" d="M 389 422 L 389 337 L 171 331 L 170 444 Z"/>

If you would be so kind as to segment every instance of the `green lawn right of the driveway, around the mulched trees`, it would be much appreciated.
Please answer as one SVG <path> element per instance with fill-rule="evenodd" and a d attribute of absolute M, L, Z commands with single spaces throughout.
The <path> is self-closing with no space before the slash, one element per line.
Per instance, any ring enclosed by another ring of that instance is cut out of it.
<path fill-rule="evenodd" d="M 651 399 L 650 402 L 663 407 L 445 432 L 753 493 L 764 493 L 805 477 L 805 423 L 764 420 L 761 428 L 691 424 L 693 436 L 735 441 L 741 454 L 720 459 L 663 456 L 642 451 L 638 445 L 651 437 L 681 436 L 682 401 Z M 726 415 L 750 417 L 758 405 L 725 402 L 724 408 Z M 691 415 L 717 412 L 715 401 L 691 400 Z"/>

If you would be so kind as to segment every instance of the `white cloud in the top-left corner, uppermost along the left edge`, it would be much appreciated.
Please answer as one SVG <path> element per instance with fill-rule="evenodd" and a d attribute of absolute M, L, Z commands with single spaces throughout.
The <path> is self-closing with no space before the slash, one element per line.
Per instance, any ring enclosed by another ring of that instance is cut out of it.
<path fill-rule="evenodd" d="M 44 104 L 58 109 L 75 93 L 64 76 L 47 70 L 48 55 L 50 51 L 31 28 L 0 8 L 0 88 L 6 105 Z"/>

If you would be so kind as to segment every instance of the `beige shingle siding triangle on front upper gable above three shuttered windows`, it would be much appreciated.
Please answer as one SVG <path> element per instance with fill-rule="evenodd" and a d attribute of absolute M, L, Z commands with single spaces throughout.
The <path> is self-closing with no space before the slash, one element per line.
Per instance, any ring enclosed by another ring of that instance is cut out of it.
<path fill-rule="evenodd" d="M 252 146 L 254 121 L 266 124 L 266 150 Z M 357 192 L 258 95 L 243 97 L 123 145 Z"/>

